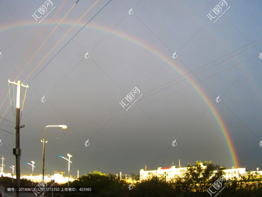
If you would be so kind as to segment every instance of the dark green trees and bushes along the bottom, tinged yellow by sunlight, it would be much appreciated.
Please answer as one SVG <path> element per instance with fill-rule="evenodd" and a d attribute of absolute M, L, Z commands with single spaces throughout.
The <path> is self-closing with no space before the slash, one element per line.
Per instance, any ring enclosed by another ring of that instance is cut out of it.
<path fill-rule="evenodd" d="M 204 166 L 204 167 L 203 167 Z M 65 197 L 257 197 L 262 196 L 262 176 L 260 174 L 251 174 L 247 172 L 245 175 L 239 175 L 235 179 L 222 182 L 223 188 L 219 193 L 207 192 L 208 188 L 214 184 L 221 175 L 225 174 L 223 170 L 226 168 L 210 162 L 197 161 L 194 165 L 187 164 L 187 170 L 183 177 L 176 176 L 165 182 L 164 177 L 149 175 L 147 179 L 132 184 L 133 188 L 129 190 L 130 183 L 125 179 L 117 177 L 115 174 L 108 175 L 98 171 L 89 172 L 79 179 L 70 182 L 70 186 L 81 186 L 88 188 L 92 186 L 91 193 L 64 193 Z M 215 174 L 215 175 L 214 175 Z M 138 180 L 139 175 L 131 174 L 134 179 Z M 211 178 L 210 178 L 211 177 Z M 9 178 L 10 179 L 10 178 Z M 11 182 L 8 177 L 0 179 L 0 183 Z M 8 181 L 9 180 L 9 181 Z M 14 181 L 15 183 L 15 181 Z M 30 180 L 22 180 L 22 186 L 30 186 Z M 37 184 L 37 183 L 34 183 Z M 56 186 L 67 186 L 65 184 L 57 184 Z M 212 189 L 214 191 L 214 188 Z"/>

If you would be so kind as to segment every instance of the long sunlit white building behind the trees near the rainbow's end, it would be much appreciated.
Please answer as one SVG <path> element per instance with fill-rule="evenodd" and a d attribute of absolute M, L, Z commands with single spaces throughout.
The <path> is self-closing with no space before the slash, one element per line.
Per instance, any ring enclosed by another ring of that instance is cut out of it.
<path fill-rule="evenodd" d="M 202 168 L 206 168 L 206 166 L 203 165 L 203 163 L 200 163 Z M 179 164 L 179 167 L 180 167 L 180 164 Z M 152 177 L 153 175 L 157 176 L 157 177 L 165 177 L 166 176 L 166 179 L 167 180 L 170 180 L 171 178 L 174 178 L 175 175 L 178 175 L 178 176 L 184 176 L 185 175 L 185 172 L 187 171 L 187 168 L 188 167 L 184 167 L 184 168 L 176 168 L 176 166 L 171 166 L 171 167 L 167 167 L 167 168 L 157 168 L 157 170 L 147 170 L 145 171 L 144 169 L 141 169 L 140 170 L 140 178 L 139 180 L 142 181 L 144 179 L 147 179 L 147 177 Z M 226 179 L 233 179 L 233 177 L 236 177 L 236 178 L 239 178 L 240 175 L 243 175 L 246 173 L 246 168 L 232 168 L 232 169 L 226 169 L 226 170 L 223 170 L 225 173 L 226 173 Z M 166 175 L 165 175 L 165 172 L 166 172 Z M 214 171 L 214 174 L 213 176 L 215 175 L 215 172 Z M 254 172 L 251 172 L 251 173 L 255 173 L 257 171 L 254 171 Z M 259 174 L 262 174 L 262 171 L 258 171 Z"/>

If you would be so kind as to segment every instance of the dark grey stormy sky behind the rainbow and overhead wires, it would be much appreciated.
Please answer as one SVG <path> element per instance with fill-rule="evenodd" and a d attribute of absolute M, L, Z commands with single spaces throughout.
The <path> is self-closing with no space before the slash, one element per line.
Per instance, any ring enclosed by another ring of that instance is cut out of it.
<path fill-rule="evenodd" d="M 68 153 L 72 177 L 77 170 L 130 174 L 145 165 L 178 167 L 179 159 L 182 166 L 198 160 L 230 168 L 233 158 L 212 109 L 230 136 L 237 164 L 262 169 L 261 2 L 228 0 L 222 12 L 230 8 L 215 23 L 218 15 L 212 22 L 206 15 L 215 16 L 217 0 L 99 0 L 90 11 L 96 1 L 79 0 L 72 8 L 76 1 L 69 0 L 61 8 L 64 2 L 52 0 L 47 9 L 54 10 L 38 23 L 32 15 L 45 1 L 0 1 L 0 116 L 15 122 L 8 86 L 4 89 L 8 79 L 29 84 L 21 118 L 21 175 L 30 175 L 25 162 L 32 160 L 34 174 L 42 173 L 44 128 L 61 124 L 68 128 L 46 130 L 49 174 L 67 172 L 58 156 Z M 135 86 L 143 96 L 126 111 L 119 102 Z M 15 132 L 7 125 L 0 121 L 2 130 Z M 5 172 L 15 165 L 15 136 L 2 130 Z"/>

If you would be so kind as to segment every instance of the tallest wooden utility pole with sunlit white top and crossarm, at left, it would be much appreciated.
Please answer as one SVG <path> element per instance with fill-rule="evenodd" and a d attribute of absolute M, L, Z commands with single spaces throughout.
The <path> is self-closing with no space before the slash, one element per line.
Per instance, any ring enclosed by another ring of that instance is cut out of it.
<path fill-rule="evenodd" d="M 13 154 L 15 155 L 15 163 L 16 163 L 16 186 L 20 187 L 20 156 L 21 156 L 21 149 L 20 149 L 20 87 L 24 86 L 21 81 L 17 81 L 17 83 L 11 82 L 8 80 L 8 83 L 13 83 L 17 85 L 17 94 L 16 94 L 16 132 L 15 132 L 15 149 L 13 149 Z M 22 126 L 21 126 L 22 128 Z M 16 196 L 19 197 L 19 191 L 16 192 Z"/>

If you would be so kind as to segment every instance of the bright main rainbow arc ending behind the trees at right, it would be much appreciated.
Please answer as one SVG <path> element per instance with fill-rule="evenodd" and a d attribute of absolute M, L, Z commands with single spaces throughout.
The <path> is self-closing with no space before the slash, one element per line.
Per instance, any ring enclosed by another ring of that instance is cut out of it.
<path fill-rule="evenodd" d="M 48 23 L 48 21 L 43 21 L 41 22 L 40 24 L 36 23 L 36 27 L 38 26 L 43 26 L 43 25 L 46 25 Z M 31 24 L 31 22 L 28 22 L 27 25 L 25 24 L 14 24 L 12 26 L 2 26 L 3 28 L 0 30 L 0 33 L 3 32 L 3 31 L 8 31 L 10 29 L 18 29 L 18 28 L 24 28 L 24 27 L 27 27 L 28 24 Z M 70 27 L 72 27 L 73 25 L 75 24 L 75 22 L 73 21 L 70 21 L 70 22 L 67 22 L 66 24 L 62 24 L 62 25 L 68 25 Z M 52 24 L 52 25 L 56 25 L 56 24 Z M 52 25 L 50 24 L 49 26 L 52 27 Z M 84 25 L 86 25 L 84 22 L 79 22 L 76 27 L 80 27 L 82 28 Z M 31 25 L 32 26 L 32 25 Z M 112 32 L 111 30 L 112 29 L 109 29 L 109 27 L 102 27 L 102 26 L 98 26 L 96 24 L 88 24 L 86 27 L 84 28 L 87 28 L 87 29 L 91 29 L 91 30 L 95 30 L 95 31 L 99 31 L 99 32 L 103 32 L 103 33 L 106 33 L 108 34 L 110 32 L 110 35 L 114 35 L 118 38 L 121 38 L 121 39 L 124 39 L 130 43 L 133 43 L 134 45 L 137 45 L 141 48 L 143 48 L 144 50 L 148 51 L 149 53 L 151 53 L 152 55 L 155 55 L 156 57 L 158 57 L 160 60 L 162 60 L 163 62 L 167 62 L 170 58 L 171 58 L 171 53 L 169 54 L 170 57 L 168 57 L 167 55 L 164 55 L 164 54 L 160 54 L 159 51 L 157 51 L 156 49 L 154 49 L 152 46 L 148 45 L 147 43 L 144 43 L 143 41 L 137 39 L 136 37 L 132 36 L 132 35 L 129 35 L 129 34 L 126 34 L 125 32 L 121 32 L 119 30 L 114 29 Z M 94 49 L 95 50 L 95 49 Z M 178 72 L 181 76 L 184 77 L 184 79 L 186 79 L 185 77 L 185 72 L 179 68 L 178 66 L 176 65 L 172 65 L 170 63 L 170 61 L 167 63 L 167 65 L 171 68 L 173 68 L 176 72 Z M 212 105 L 212 102 L 208 99 L 207 95 L 203 92 L 203 90 L 201 90 L 200 86 L 197 85 L 193 80 L 192 78 L 187 78 L 186 79 L 188 81 L 188 83 L 194 87 L 194 89 L 196 90 L 196 92 L 198 93 L 198 95 L 204 100 L 204 102 L 206 103 L 206 106 L 209 108 L 211 105 Z M 194 84 L 194 85 L 193 85 Z M 229 131 L 228 129 L 226 128 L 226 125 L 225 123 L 223 122 L 223 119 L 221 118 L 221 116 L 219 115 L 217 109 L 215 108 L 214 105 L 212 105 L 210 107 L 210 111 L 213 115 L 213 117 L 215 118 L 216 122 L 217 122 L 217 125 L 219 126 L 219 129 L 221 130 L 222 134 L 223 134 L 223 137 L 224 137 L 224 140 L 227 144 L 227 149 L 229 151 L 229 154 L 230 154 L 230 158 L 231 158 L 231 162 L 232 162 L 232 165 L 235 166 L 235 167 L 238 167 L 238 159 L 237 159 L 237 154 L 236 154 L 236 150 L 234 148 L 234 144 L 231 140 L 231 137 L 230 137 L 230 134 L 229 134 Z"/>

